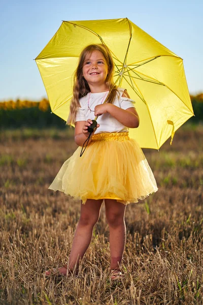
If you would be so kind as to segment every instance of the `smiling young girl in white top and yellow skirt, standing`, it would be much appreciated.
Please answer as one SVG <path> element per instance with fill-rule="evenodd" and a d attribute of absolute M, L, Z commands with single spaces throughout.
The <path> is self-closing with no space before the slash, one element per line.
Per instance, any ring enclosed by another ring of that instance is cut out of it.
<path fill-rule="evenodd" d="M 157 191 L 156 181 L 138 143 L 128 136 L 129 128 L 139 127 L 134 102 L 124 88 L 113 83 L 114 63 L 107 46 L 89 45 L 81 53 L 75 74 L 73 99 L 67 124 L 75 125 L 79 146 L 95 116 L 97 125 L 80 157 L 81 147 L 64 162 L 49 189 L 81 199 L 81 216 L 67 265 L 45 275 L 68 271 L 78 273 L 105 201 L 110 230 L 111 279 L 122 276 L 120 269 L 126 240 L 126 205 Z M 108 102 L 104 101 L 108 97 Z"/>

